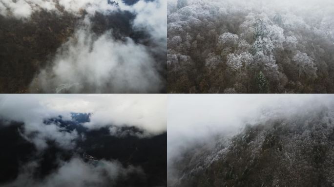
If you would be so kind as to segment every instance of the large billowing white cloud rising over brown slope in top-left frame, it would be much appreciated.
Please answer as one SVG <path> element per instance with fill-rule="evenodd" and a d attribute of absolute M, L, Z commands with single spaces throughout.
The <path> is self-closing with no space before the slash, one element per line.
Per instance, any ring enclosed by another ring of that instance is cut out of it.
<path fill-rule="evenodd" d="M 58 85 L 74 83 L 73 93 L 157 93 L 163 84 L 154 64 L 146 46 L 129 37 L 116 41 L 106 32 L 96 38 L 80 29 L 31 88 L 54 93 Z"/>

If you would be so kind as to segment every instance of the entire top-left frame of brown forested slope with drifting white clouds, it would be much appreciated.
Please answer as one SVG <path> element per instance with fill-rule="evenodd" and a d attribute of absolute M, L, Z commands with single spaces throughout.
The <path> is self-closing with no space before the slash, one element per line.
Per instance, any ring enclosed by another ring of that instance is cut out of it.
<path fill-rule="evenodd" d="M 166 6 L 0 0 L 0 93 L 166 93 Z"/>

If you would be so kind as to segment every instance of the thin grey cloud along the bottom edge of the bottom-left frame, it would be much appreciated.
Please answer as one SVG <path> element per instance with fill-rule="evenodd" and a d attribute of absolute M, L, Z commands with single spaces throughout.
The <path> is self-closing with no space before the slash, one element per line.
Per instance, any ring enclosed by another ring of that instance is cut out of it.
<path fill-rule="evenodd" d="M 138 167 L 123 167 L 117 161 L 99 160 L 95 163 L 72 158 L 68 162 L 60 161 L 60 167 L 42 180 L 33 178 L 34 170 L 39 166 L 32 161 L 21 169 L 18 178 L 4 187 L 107 187 L 115 184 L 120 177 L 129 173 L 144 174 Z"/>

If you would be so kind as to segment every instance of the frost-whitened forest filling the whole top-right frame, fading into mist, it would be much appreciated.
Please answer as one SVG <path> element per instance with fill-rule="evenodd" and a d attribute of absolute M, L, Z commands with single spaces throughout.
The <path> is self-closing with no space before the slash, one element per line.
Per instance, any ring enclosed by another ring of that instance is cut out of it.
<path fill-rule="evenodd" d="M 334 93 L 334 2 L 170 0 L 168 93 Z"/>

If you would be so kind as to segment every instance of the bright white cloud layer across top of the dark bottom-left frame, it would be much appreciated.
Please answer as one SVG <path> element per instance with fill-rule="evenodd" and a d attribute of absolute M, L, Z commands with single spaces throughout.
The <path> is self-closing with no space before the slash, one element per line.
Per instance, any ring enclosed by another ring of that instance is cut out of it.
<path fill-rule="evenodd" d="M 53 140 L 63 149 L 75 147 L 75 139 L 82 138 L 76 131 L 64 131 L 58 124 L 45 125 L 44 120 L 62 116 L 70 120 L 71 113 L 90 113 L 90 121 L 83 126 L 137 127 L 144 132 L 140 137 L 167 131 L 165 95 L 1 95 L 0 118 L 5 124 L 23 122 L 22 136 L 34 142 L 38 149 L 47 148 Z M 7 122 L 6 122 L 7 121 Z M 113 130 L 113 129 L 111 129 Z M 118 135 L 111 131 L 111 135 Z M 123 131 L 119 131 L 122 133 Z M 32 136 L 33 135 L 33 136 Z M 136 135 L 136 134 L 132 134 Z"/>

